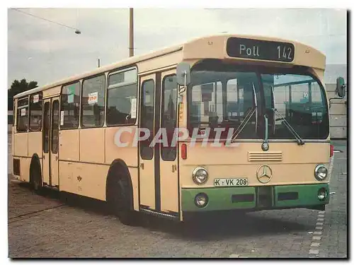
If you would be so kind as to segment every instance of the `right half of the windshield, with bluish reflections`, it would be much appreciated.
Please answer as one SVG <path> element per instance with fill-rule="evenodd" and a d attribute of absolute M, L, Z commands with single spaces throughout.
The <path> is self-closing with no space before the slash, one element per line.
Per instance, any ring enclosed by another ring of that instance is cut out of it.
<path fill-rule="evenodd" d="M 271 108 L 287 119 L 302 139 L 326 139 L 329 119 L 324 90 L 312 76 L 261 74 L 265 91 L 265 111 L 273 123 L 270 139 L 291 139 L 292 134 Z"/>

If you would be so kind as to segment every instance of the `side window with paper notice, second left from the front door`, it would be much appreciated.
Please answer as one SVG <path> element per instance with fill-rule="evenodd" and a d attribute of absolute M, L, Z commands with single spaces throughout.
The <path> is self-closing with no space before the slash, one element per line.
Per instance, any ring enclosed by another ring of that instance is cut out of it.
<path fill-rule="evenodd" d="M 105 75 L 84 80 L 81 99 L 81 126 L 103 126 L 105 117 Z"/>

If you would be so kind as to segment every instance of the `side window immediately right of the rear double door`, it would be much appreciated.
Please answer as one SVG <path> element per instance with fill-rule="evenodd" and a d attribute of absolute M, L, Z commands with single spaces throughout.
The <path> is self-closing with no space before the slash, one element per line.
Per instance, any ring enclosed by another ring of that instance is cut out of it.
<path fill-rule="evenodd" d="M 62 87 L 60 105 L 60 127 L 62 129 L 79 126 L 80 82 Z"/>

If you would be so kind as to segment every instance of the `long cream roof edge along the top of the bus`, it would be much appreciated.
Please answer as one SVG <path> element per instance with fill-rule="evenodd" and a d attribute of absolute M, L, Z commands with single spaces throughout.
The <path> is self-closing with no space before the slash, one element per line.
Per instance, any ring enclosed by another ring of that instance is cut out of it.
<path fill-rule="evenodd" d="M 38 88 L 33 88 L 31 90 L 27 90 L 27 91 L 25 91 L 23 93 L 19 93 L 19 94 L 15 95 L 13 98 L 21 98 L 21 97 L 23 97 L 25 95 L 30 95 L 32 93 L 36 93 L 36 92 L 39 92 L 39 91 L 42 91 L 42 90 L 47 90 L 48 88 L 54 88 L 56 86 L 61 86 L 61 85 L 65 84 L 65 83 L 71 83 L 72 81 L 76 81 L 76 80 L 79 80 L 81 78 L 86 78 L 88 76 L 94 76 L 94 75 L 96 75 L 98 73 L 104 73 L 105 71 L 118 69 L 118 68 L 123 67 L 123 66 L 130 66 L 130 65 L 135 64 L 135 63 L 137 63 L 139 61 L 145 61 L 147 59 L 152 59 L 154 57 L 163 56 L 164 54 L 170 54 L 172 52 L 178 52 L 181 49 L 183 49 L 183 47 L 186 44 L 191 44 L 193 42 L 197 42 L 198 40 L 208 39 L 210 37 L 213 37 L 213 38 L 215 38 L 215 37 L 224 38 L 225 40 L 227 40 L 227 38 L 229 38 L 229 37 L 245 37 L 245 38 L 260 39 L 260 40 L 273 40 L 273 41 L 280 41 L 280 42 L 292 42 L 292 43 L 297 44 L 297 45 L 302 45 L 304 47 L 309 47 L 311 49 L 314 49 L 313 47 L 311 47 L 309 45 L 304 45 L 301 42 L 280 39 L 278 37 L 265 37 L 265 36 L 261 36 L 261 35 L 236 35 L 236 34 L 209 35 L 209 36 L 198 37 L 198 38 L 195 38 L 193 40 L 189 40 L 189 41 L 184 42 L 183 44 L 180 44 L 180 45 L 174 45 L 174 46 L 171 46 L 171 47 L 166 47 L 166 48 L 159 49 L 159 50 L 156 50 L 156 51 L 153 51 L 153 52 L 149 52 L 147 54 L 142 54 L 142 55 L 139 55 L 139 56 L 129 57 L 129 58 L 124 59 L 122 61 L 118 61 L 116 63 L 109 64 L 107 66 L 99 67 L 97 69 L 94 69 L 93 71 L 89 71 L 89 72 L 86 72 L 86 73 L 81 73 L 79 75 L 71 76 L 69 78 L 64 78 L 64 79 L 62 79 L 60 81 L 56 81 L 54 83 L 49 83 L 49 84 L 47 84 L 45 86 L 40 86 Z M 314 49 L 314 50 L 316 50 L 316 49 Z M 318 50 L 316 50 L 316 52 L 321 54 L 321 56 L 325 57 L 324 54 L 319 52 Z"/>

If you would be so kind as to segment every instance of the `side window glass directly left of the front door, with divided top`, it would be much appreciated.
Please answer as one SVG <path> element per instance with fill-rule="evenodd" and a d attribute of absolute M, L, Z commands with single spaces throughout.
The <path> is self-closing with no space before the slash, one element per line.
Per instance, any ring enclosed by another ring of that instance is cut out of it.
<path fill-rule="evenodd" d="M 135 124 L 137 119 L 137 70 L 108 77 L 107 125 Z"/>

